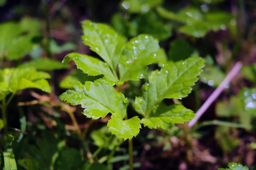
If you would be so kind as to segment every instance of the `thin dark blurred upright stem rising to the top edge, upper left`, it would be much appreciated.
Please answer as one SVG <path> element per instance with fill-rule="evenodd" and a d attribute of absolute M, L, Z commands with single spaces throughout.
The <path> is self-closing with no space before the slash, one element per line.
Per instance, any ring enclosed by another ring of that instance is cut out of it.
<path fill-rule="evenodd" d="M 45 0 L 41 0 L 43 10 L 44 10 L 44 18 L 46 21 L 46 31 L 47 31 L 47 45 L 46 45 L 46 52 L 47 52 L 47 57 L 51 58 L 51 51 L 50 51 L 50 40 L 51 40 L 51 32 L 50 32 L 50 22 L 49 22 L 49 17 L 48 17 L 48 12 L 47 12 L 47 6 L 45 3 Z"/>

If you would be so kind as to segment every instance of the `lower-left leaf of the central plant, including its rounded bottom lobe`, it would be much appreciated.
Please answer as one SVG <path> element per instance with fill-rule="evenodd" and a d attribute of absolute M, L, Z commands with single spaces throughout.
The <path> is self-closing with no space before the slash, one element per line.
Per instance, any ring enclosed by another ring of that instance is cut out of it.
<path fill-rule="evenodd" d="M 84 85 L 80 82 L 71 84 L 74 90 L 61 94 L 62 101 L 71 105 L 81 104 L 82 108 L 86 108 L 83 114 L 93 119 L 104 118 L 108 113 L 112 113 L 108 127 L 117 137 L 131 139 L 139 133 L 140 119 L 133 117 L 123 120 L 127 114 L 128 99 L 122 93 L 118 93 L 111 84 L 103 79 L 87 81 Z"/>

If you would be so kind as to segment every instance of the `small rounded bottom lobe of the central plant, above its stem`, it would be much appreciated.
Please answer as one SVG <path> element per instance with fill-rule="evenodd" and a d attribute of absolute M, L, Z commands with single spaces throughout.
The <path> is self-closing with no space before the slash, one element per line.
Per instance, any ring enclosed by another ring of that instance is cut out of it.
<path fill-rule="evenodd" d="M 140 132 L 140 119 L 138 116 L 134 116 L 131 119 L 123 120 L 112 115 L 108 121 L 108 129 L 112 134 L 123 139 L 132 139 L 133 136 L 137 136 Z"/>

